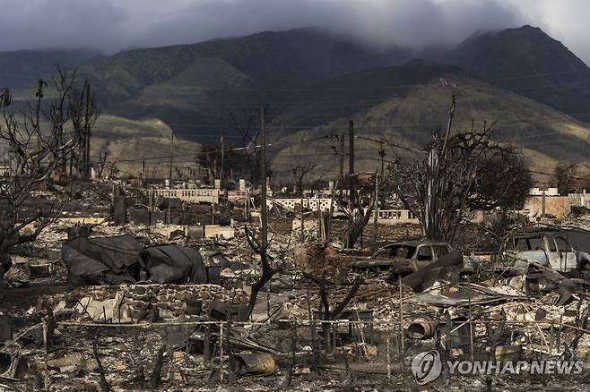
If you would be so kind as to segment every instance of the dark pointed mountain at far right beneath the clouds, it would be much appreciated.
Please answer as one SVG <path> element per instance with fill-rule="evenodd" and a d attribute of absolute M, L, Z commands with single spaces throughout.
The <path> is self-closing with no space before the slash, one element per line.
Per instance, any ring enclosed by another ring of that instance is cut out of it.
<path fill-rule="evenodd" d="M 539 28 L 475 34 L 450 51 L 445 62 L 590 121 L 590 70 Z"/>

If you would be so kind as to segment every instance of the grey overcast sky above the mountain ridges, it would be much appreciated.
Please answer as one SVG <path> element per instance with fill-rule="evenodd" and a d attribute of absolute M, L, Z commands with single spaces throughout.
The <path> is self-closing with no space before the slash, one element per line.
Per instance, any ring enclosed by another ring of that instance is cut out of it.
<path fill-rule="evenodd" d="M 527 23 L 588 64 L 589 13 L 587 0 L 0 0 L 0 50 L 112 53 L 308 26 L 380 46 L 423 47 Z"/>

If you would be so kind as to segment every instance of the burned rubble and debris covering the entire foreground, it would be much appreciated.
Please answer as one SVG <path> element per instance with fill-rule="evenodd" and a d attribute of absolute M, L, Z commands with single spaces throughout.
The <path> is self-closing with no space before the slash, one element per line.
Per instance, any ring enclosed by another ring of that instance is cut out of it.
<path fill-rule="evenodd" d="M 584 216 L 569 222 L 576 235 L 515 231 L 501 243 L 486 237 L 493 249 L 482 238 L 421 240 L 412 225 L 379 226 L 377 243 L 369 225 L 362 247 L 343 249 L 322 238 L 313 214 L 299 243 L 298 219 L 275 211 L 265 267 L 246 236 L 249 226 L 258 238 L 256 214 L 177 202 L 174 224 L 116 226 L 95 215 L 104 202 L 74 192 L 80 212 L 13 255 L 0 306 L 0 388 L 412 389 L 412 360 L 433 350 L 456 361 L 590 361 Z M 138 210 L 155 203 L 127 194 Z M 199 225 L 215 217 L 230 226 Z M 334 220 L 332 238 L 346 225 Z M 509 377 L 443 372 L 429 386 Z"/>

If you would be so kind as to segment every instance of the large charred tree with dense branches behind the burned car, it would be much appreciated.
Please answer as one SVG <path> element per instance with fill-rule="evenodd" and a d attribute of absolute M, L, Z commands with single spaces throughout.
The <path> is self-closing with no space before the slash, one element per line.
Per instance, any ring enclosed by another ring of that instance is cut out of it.
<path fill-rule="evenodd" d="M 447 132 L 431 133 L 427 158 L 389 166 L 391 189 L 431 240 L 452 242 L 469 211 L 522 207 L 533 184 L 522 155 L 490 141 L 494 124 L 451 135 L 455 107 L 454 95 Z"/>

